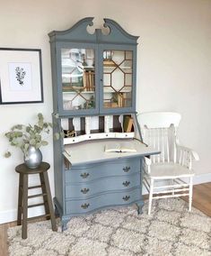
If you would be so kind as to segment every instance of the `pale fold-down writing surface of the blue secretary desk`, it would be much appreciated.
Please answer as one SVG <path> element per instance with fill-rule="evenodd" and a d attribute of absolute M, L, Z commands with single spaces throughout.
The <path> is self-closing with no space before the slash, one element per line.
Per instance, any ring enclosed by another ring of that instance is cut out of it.
<path fill-rule="evenodd" d="M 109 142 L 131 142 L 136 152 L 105 152 L 105 145 Z M 147 156 L 160 153 L 152 147 L 133 139 L 107 139 L 89 142 L 80 142 L 65 146 L 64 156 L 72 165 L 91 163 L 103 160 L 115 160 L 119 158 L 129 158 L 136 156 Z"/>

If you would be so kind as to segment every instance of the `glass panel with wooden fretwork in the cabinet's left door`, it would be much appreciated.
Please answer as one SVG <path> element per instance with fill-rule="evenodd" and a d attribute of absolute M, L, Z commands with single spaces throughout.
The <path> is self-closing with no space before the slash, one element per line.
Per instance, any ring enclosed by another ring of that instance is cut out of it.
<path fill-rule="evenodd" d="M 61 49 L 63 109 L 92 110 L 96 107 L 94 49 Z"/>

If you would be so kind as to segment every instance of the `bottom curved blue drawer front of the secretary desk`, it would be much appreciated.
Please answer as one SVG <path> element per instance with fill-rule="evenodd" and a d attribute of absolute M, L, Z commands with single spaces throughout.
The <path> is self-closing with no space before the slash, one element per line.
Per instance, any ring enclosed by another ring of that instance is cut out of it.
<path fill-rule="evenodd" d="M 107 193 L 86 200 L 66 201 L 66 215 L 86 214 L 94 209 L 105 206 L 121 206 L 134 203 L 141 199 L 141 188 L 125 192 Z"/>

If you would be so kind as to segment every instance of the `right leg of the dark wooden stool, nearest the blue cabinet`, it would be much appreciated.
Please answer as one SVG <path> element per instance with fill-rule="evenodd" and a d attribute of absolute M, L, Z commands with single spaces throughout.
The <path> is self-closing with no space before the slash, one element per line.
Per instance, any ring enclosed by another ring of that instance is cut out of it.
<path fill-rule="evenodd" d="M 50 193 L 50 187 L 49 187 L 49 181 L 48 181 L 48 172 L 45 171 L 43 173 L 40 173 L 40 181 L 41 181 L 41 187 L 42 187 L 42 193 L 47 194 L 47 201 L 44 199 L 44 206 L 46 210 L 46 214 L 50 215 L 52 230 L 57 231 L 57 224 L 56 224 L 56 218 L 54 215 L 54 208 Z"/>

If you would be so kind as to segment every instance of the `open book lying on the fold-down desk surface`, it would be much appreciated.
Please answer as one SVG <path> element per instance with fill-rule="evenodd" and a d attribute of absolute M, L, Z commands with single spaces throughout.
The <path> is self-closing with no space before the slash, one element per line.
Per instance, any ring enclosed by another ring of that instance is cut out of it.
<path fill-rule="evenodd" d="M 136 152 L 131 142 L 109 142 L 105 145 L 105 152 Z"/>

